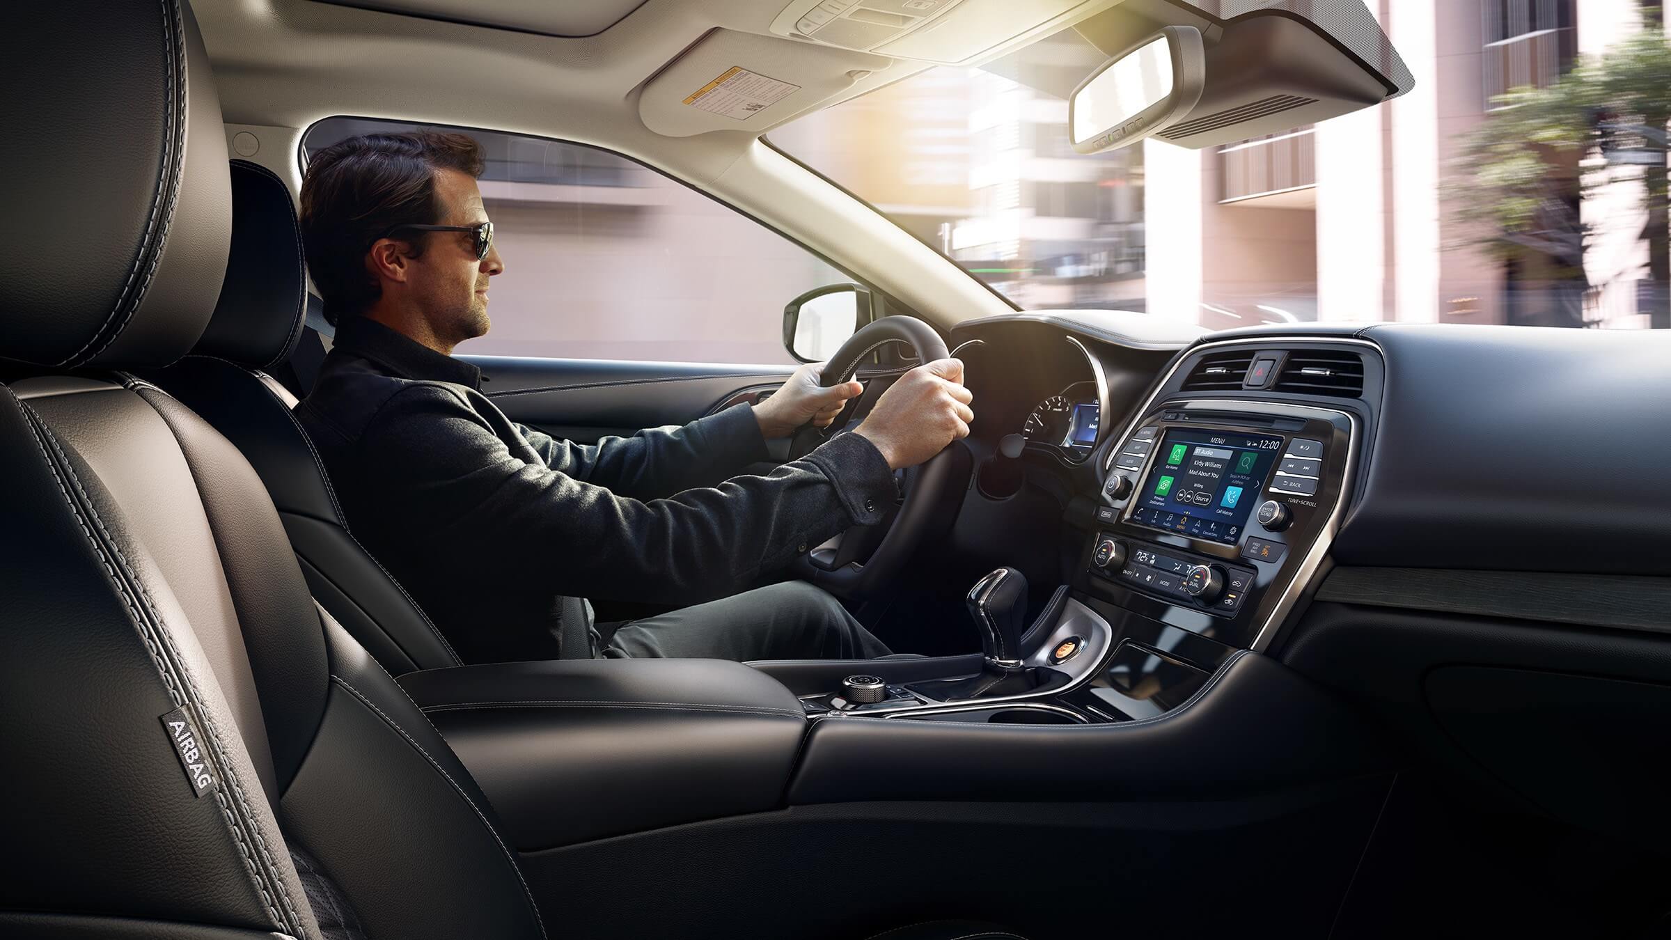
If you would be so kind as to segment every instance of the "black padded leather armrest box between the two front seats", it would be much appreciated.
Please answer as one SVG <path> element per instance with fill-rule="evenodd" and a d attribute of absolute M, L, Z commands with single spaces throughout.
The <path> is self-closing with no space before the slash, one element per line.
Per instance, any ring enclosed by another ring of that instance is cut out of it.
<path fill-rule="evenodd" d="M 780 682 L 717 659 L 563 659 L 399 679 L 535 851 L 782 805 L 805 733 Z"/>

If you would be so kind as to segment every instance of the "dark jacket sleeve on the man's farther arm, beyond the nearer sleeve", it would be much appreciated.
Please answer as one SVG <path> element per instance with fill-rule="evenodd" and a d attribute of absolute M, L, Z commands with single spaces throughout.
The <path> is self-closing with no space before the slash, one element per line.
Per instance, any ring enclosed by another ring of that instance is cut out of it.
<path fill-rule="evenodd" d="M 640 500 L 712 487 L 767 458 L 760 421 L 747 405 L 734 405 L 685 427 L 647 428 L 632 437 L 607 437 L 595 445 L 560 442 L 525 425 L 516 425 L 516 430 L 558 473 Z"/>

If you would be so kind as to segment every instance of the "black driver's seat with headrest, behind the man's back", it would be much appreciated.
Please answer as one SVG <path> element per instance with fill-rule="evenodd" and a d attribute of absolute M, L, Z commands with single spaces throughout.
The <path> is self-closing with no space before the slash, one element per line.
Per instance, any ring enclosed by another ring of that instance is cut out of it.
<path fill-rule="evenodd" d="M 214 316 L 192 353 L 144 378 L 197 411 L 249 460 L 279 510 L 307 589 L 394 676 L 458 666 L 451 644 L 368 552 L 296 423 L 296 396 L 269 375 L 294 351 L 307 281 L 291 191 L 232 161 L 232 243 Z"/>

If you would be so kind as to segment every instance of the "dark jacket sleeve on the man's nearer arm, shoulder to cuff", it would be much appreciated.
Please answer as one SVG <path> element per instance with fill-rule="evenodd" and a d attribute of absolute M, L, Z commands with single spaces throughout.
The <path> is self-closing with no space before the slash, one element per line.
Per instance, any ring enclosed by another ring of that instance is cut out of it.
<path fill-rule="evenodd" d="M 881 522 L 896 493 L 876 445 L 849 433 L 765 477 L 625 497 L 518 458 L 458 393 L 433 385 L 396 395 L 359 447 L 378 468 L 378 515 L 456 552 L 461 582 L 511 574 L 595 599 L 734 594 L 851 525 Z"/>

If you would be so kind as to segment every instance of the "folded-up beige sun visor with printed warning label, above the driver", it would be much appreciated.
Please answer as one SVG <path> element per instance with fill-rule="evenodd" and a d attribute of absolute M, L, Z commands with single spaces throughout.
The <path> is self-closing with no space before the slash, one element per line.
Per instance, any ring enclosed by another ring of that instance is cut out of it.
<path fill-rule="evenodd" d="M 638 117 L 668 137 L 759 134 L 891 64 L 882 55 L 712 30 L 650 79 L 638 97 Z"/>

